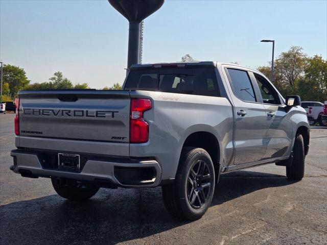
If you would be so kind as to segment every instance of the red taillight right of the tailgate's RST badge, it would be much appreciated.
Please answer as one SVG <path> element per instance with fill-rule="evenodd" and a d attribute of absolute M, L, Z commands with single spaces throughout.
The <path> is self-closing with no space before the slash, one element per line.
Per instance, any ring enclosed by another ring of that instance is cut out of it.
<path fill-rule="evenodd" d="M 130 142 L 145 143 L 149 139 L 149 124 L 143 113 L 152 108 L 149 99 L 132 99 L 130 109 Z"/>

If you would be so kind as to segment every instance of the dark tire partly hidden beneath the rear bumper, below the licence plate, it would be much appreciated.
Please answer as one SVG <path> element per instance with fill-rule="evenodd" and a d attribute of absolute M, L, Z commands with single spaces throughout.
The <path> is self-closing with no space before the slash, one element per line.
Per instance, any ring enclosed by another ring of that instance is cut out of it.
<path fill-rule="evenodd" d="M 51 182 L 58 195 L 68 200 L 85 201 L 99 190 L 99 187 L 93 184 L 83 184 L 71 179 L 51 178 Z"/>

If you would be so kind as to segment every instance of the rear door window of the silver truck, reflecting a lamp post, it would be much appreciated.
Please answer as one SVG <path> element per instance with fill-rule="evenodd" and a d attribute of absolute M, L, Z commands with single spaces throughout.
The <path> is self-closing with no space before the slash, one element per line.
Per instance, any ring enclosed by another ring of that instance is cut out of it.
<path fill-rule="evenodd" d="M 227 68 L 234 94 L 242 101 L 256 102 L 247 71 Z"/>

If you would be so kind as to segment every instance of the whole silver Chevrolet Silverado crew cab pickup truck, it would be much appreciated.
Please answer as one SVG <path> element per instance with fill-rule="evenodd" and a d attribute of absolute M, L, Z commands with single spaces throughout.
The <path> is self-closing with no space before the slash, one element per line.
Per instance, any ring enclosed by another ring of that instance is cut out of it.
<path fill-rule="evenodd" d="M 20 91 L 10 167 L 86 200 L 100 187 L 162 187 L 168 211 L 200 218 L 221 174 L 266 163 L 300 180 L 310 131 L 259 71 L 218 62 L 133 65 L 123 90 Z"/>

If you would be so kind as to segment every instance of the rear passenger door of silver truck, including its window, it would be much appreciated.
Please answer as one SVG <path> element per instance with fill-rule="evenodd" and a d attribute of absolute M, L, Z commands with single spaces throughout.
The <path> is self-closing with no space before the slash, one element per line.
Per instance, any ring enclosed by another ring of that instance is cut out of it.
<path fill-rule="evenodd" d="M 258 103 L 248 71 L 225 67 L 236 116 L 234 164 L 260 161 L 266 151 L 266 109 Z"/>

